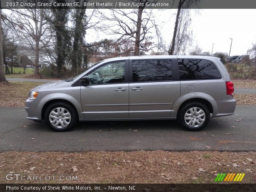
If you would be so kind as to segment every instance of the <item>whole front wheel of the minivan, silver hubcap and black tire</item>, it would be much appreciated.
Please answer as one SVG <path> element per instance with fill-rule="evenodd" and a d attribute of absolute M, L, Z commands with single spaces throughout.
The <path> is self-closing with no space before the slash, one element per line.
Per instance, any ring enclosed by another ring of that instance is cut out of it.
<path fill-rule="evenodd" d="M 52 130 L 62 132 L 75 126 L 77 115 L 74 107 L 70 104 L 57 102 L 46 108 L 44 120 Z"/>

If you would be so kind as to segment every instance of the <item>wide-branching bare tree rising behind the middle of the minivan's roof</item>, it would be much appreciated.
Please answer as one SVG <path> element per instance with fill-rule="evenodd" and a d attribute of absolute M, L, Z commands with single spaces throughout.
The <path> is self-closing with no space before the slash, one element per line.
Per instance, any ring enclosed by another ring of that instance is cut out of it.
<path fill-rule="evenodd" d="M 140 6 L 137 9 L 111 9 L 110 14 L 101 13 L 102 19 L 108 21 L 105 26 L 106 34 L 118 36 L 114 42 L 117 46 L 133 44 L 132 49 L 127 49 L 126 53 L 135 56 L 153 48 L 152 36 L 149 36 L 152 30 L 155 30 L 160 37 L 152 9 L 145 9 L 148 0 L 139 0 L 139 2 Z"/>

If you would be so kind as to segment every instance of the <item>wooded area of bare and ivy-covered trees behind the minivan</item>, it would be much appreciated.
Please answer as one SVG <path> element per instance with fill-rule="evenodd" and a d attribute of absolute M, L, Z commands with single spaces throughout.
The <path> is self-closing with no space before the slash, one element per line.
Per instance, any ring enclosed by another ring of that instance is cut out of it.
<path fill-rule="evenodd" d="M 65 2 L 56 0 L 56 2 Z M 86 0 L 81 0 L 83 4 Z M 148 2 L 148 0 L 138 0 Z M 34 67 L 34 75 L 40 76 L 42 66 L 47 66 L 55 77 L 64 73 L 74 76 L 94 62 L 118 56 L 145 54 L 186 54 L 220 57 L 225 62 L 226 53 L 202 52 L 192 48 L 191 10 L 200 0 L 179 0 L 175 14 L 172 42 L 165 42 L 159 23 L 152 9 L 138 6 L 136 9 L 109 9 L 108 14 L 98 9 L 12 9 L 10 14 L 0 10 L 0 82 L 6 82 L 5 74 L 12 74 L 13 67 Z M 159 10 L 161 11 L 161 10 Z M 173 15 L 170 15 L 172 17 Z M 87 30 L 112 35 L 88 43 Z M 157 39 L 157 41 L 154 41 Z M 157 42 L 157 43 L 156 43 Z M 31 52 L 30 56 L 24 50 Z M 157 51 L 156 51 L 157 50 Z M 256 58 L 256 44 L 248 54 Z M 5 68 L 4 68 L 5 66 Z M 10 67 L 10 70 L 9 70 Z"/>

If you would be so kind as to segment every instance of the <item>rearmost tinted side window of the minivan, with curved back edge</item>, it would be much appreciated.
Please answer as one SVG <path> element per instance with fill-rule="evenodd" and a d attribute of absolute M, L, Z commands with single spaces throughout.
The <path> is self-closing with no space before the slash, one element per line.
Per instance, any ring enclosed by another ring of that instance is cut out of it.
<path fill-rule="evenodd" d="M 178 59 L 180 80 L 221 79 L 216 65 L 204 59 Z"/>

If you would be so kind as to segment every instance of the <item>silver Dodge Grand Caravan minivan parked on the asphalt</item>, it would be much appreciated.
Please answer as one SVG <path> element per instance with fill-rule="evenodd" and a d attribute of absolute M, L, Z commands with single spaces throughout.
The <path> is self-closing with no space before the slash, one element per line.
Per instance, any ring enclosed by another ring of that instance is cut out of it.
<path fill-rule="evenodd" d="M 234 114 L 234 86 L 220 58 L 130 56 L 99 62 L 82 74 L 30 90 L 27 119 L 54 131 L 77 121 L 178 119 L 190 131 Z"/>

